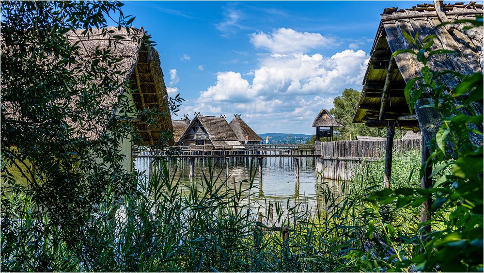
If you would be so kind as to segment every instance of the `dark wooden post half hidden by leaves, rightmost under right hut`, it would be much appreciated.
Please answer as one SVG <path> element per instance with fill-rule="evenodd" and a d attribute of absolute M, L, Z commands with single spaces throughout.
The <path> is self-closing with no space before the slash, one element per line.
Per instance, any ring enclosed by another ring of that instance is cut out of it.
<path fill-rule="evenodd" d="M 427 142 L 425 141 L 425 138 L 422 137 L 422 167 L 425 165 L 429 157 L 430 157 L 430 151 L 429 151 L 429 148 L 427 147 Z M 421 180 L 422 189 L 428 189 L 432 186 L 432 178 L 430 178 L 431 174 L 432 174 L 432 163 L 429 162 L 429 164 L 425 168 L 425 173 Z M 429 210 L 431 203 L 432 203 L 432 195 L 429 195 L 429 198 L 422 203 L 422 207 L 420 209 L 421 210 L 420 223 L 426 222 L 432 217 L 432 214 L 430 213 L 430 210 Z M 422 241 L 424 241 L 427 234 L 430 233 L 431 225 L 430 224 L 423 225 L 421 229 L 422 229 Z"/>

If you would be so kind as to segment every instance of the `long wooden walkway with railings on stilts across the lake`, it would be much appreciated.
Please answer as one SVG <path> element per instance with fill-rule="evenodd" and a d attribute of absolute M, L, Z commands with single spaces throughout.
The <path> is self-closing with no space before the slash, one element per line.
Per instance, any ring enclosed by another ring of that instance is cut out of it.
<path fill-rule="evenodd" d="M 281 157 L 281 158 L 308 158 L 319 157 L 314 144 L 300 145 L 191 145 L 172 146 L 165 150 L 140 150 L 135 148 L 133 157 L 149 158 L 156 156 L 170 156 L 176 158 L 226 158 L 226 157 Z"/>

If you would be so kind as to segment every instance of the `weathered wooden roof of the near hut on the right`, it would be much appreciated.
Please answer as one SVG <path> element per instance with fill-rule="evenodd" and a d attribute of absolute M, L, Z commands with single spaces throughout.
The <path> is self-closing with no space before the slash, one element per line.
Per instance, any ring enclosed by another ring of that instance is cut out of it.
<path fill-rule="evenodd" d="M 418 42 L 428 35 L 435 35 L 432 50 L 445 48 L 457 51 L 458 54 L 432 56 L 428 63 L 432 70 L 452 70 L 465 75 L 482 72 L 483 29 L 465 30 L 462 26 L 452 25 L 437 27 L 442 22 L 452 22 L 456 19 L 475 19 L 476 15 L 483 15 L 483 5 L 475 2 L 440 4 L 436 1 L 431 4 L 419 4 L 406 10 L 385 9 L 381 14 L 353 122 L 367 122 L 367 125 L 372 121 L 391 122 L 396 123 L 397 128 L 417 130 L 422 119 L 435 120 L 435 111 L 431 112 L 432 109 L 429 108 L 422 108 L 417 115 L 412 116 L 404 96 L 406 82 L 421 76 L 422 64 L 417 61 L 415 55 L 408 53 L 400 54 L 394 61 L 390 61 L 391 54 L 398 49 L 415 49 L 406 41 L 403 31 L 412 37 L 418 32 Z M 385 82 L 388 83 L 387 86 Z M 456 84 L 454 79 L 447 82 L 449 88 L 455 87 Z M 436 126 L 428 126 L 430 127 Z"/>

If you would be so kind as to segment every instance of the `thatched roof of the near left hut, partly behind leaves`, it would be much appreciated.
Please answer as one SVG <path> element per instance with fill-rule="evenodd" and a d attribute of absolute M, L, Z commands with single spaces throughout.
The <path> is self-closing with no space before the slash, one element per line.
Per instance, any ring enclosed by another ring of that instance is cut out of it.
<path fill-rule="evenodd" d="M 130 33 L 125 28 L 121 30 L 115 27 L 104 30 L 93 29 L 93 32 L 89 33 L 89 37 L 83 35 L 83 31 L 77 30 L 66 34 L 70 42 L 79 42 L 81 63 L 84 58 L 87 60 L 94 56 L 94 51 L 97 48 L 110 49 L 112 56 L 120 58 L 118 70 L 123 73 L 119 76 L 120 82 L 129 82 L 131 89 L 136 90 L 132 95 L 136 108 L 142 111 L 157 108 L 160 112 L 169 113 L 167 91 L 160 67 L 159 54 L 155 48 L 142 43 L 141 38 L 145 34 L 142 28 L 130 29 Z M 114 39 L 115 35 L 121 35 L 124 39 Z M 124 92 L 125 90 L 120 90 L 118 94 L 111 94 L 108 98 L 100 98 L 100 101 L 114 104 L 118 96 Z M 157 116 L 156 121 L 157 125 L 150 126 L 142 121 L 137 123 L 137 128 L 145 145 L 154 143 L 159 138 L 161 131 L 172 130 L 169 114 Z M 172 142 L 172 140 L 169 140 L 169 142 Z"/>

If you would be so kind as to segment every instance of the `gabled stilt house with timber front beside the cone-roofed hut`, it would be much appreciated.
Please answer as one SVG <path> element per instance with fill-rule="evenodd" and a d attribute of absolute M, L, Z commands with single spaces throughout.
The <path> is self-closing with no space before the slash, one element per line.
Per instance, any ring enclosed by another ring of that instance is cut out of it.
<path fill-rule="evenodd" d="M 213 145 L 243 148 L 224 117 L 197 115 L 181 135 L 179 145 Z"/>

